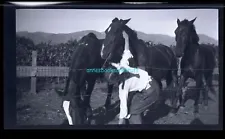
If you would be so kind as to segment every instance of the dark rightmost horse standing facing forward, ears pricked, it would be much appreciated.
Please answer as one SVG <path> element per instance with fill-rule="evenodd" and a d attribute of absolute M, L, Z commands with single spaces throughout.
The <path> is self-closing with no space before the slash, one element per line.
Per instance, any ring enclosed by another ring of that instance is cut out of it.
<path fill-rule="evenodd" d="M 202 91 L 204 105 L 208 105 L 208 91 L 212 93 L 215 90 L 212 86 L 213 70 L 215 67 L 215 52 L 214 48 L 207 45 L 199 45 L 199 37 L 196 33 L 194 21 L 187 19 L 180 21 L 177 19 L 178 27 L 175 30 L 176 46 L 175 54 L 181 59 L 181 77 L 179 83 L 180 106 L 184 107 L 186 101 L 185 92 L 182 94 L 182 87 L 188 78 L 196 81 L 196 98 L 195 98 L 195 113 L 199 111 L 199 98 Z M 207 86 L 205 86 L 207 85 Z M 203 89 L 205 87 L 205 89 Z M 179 98 L 176 98 L 176 101 Z"/>

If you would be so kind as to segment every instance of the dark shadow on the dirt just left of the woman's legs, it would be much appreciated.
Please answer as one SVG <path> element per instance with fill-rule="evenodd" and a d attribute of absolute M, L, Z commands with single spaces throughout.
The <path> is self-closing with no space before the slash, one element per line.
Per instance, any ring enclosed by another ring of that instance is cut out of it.
<path fill-rule="evenodd" d="M 107 124 L 114 120 L 119 113 L 119 100 L 112 104 L 107 111 L 103 107 L 99 107 L 93 111 L 92 120 L 96 125 Z"/>

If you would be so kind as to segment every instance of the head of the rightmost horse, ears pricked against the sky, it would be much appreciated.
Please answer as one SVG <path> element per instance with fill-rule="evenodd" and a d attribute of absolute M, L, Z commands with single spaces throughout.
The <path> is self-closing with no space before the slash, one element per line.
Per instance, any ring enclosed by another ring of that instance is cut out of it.
<path fill-rule="evenodd" d="M 180 21 L 177 19 L 178 27 L 175 30 L 175 54 L 177 57 L 182 57 L 185 53 L 186 48 L 190 43 L 198 43 L 199 38 L 195 30 L 194 22 L 196 18 L 191 21 L 184 19 Z"/>

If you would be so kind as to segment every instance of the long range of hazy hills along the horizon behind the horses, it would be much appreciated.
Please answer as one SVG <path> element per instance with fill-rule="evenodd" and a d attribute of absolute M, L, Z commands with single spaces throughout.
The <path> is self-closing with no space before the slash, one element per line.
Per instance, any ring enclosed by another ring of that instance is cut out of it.
<path fill-rule="evenodd" d="M 41 43 L 41 42 L 50 42 L 52 44 L 59 44 L 59 43 L 66 43 L 68 40 L 76 39 L 79 40 L 84 35 L 93 32 L 99 39 L 103 39 L 105 37 L 105 34 L 102 32 L 94 31 L 94 30 L 85 30 L 85 31 L 78 31 L 73 33 L 45 33 L 45 32 L 17 32 L 16 34 L 18 36 L 23 36 L 26 38 L 29 38 L 34 41 L 35 44 Z M 144 41 L 151 41 L 153 43 L 162 43 L 164 45 L 170 46 L 175 44 L 175 38 L 163 35 L 163 34 L 146 34 L 140 31 L 137 31 L 138 37 L 140 39 L 143 39 Z M 200 43 L 211 43 L 218 45 L 218 41 L 205 35 L 205 34 L 199 34 Z"/>

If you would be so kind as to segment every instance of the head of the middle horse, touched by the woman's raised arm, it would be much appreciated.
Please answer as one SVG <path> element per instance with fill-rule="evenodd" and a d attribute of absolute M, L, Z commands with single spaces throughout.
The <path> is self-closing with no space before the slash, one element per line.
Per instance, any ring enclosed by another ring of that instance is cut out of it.
<path fill-rule="evenodd" d="M 105 39 L 102 44 L 101 57 L 111 62 L 119 62 L 124 51 L 123 31 L 130 19 L 122 20 L 114 18 L 105 30 Z"/>

